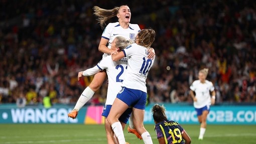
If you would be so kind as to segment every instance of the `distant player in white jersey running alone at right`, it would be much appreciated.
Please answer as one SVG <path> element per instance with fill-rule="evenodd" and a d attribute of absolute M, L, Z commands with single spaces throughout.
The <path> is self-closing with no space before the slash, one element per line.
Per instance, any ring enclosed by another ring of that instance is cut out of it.
<path fill-rule="evenodd" d="M 190 95 L 194 101 L 200 125 L 198 139 L 202 140 L 206 129 L 206 118 L 210 111 L 210 105 L 215 103 L 215 90 L 212 82 L 206 80 L 208 69 L 202 69 L 198 73 L 198 79 L 190 86 Z M 194 95 L 195 92 L 195 95 Z M 211 92 L 211 95 L 210 95 Z"/>

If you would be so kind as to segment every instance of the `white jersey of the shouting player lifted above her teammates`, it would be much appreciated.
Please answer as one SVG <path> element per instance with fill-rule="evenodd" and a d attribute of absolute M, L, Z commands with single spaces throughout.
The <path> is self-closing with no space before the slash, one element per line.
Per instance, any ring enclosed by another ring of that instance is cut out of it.
<path fill-rule="evenodd" d="M 141 31 L 139 25 L 137 24 L 129 24 L 128 29 L 123 29 L 119 22 L 116 23 L 109 23 L 105 30 L 103 31 L 101 38 L 108 40 L 108 48 L 111 48 L 111 43 L 115 37 L 121 36 L 124 37 L 126 40 L 132 40 L 135 42 L 135 37 Z M 104 54 L 103 57 L 106 57 L 107 54 Z"/>

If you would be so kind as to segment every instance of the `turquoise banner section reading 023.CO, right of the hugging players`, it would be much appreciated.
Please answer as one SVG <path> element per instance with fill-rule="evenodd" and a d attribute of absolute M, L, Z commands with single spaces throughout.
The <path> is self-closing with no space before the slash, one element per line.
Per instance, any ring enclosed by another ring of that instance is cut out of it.
<path fill-rule="evenodd" d="M 197 124 L 198 119 L 193 106 L 188 105 L 164 105 L 168 119 L 183 124 Z M 144 123 L 152 123 L 153 117 L 147 107 Z M 207 117 L 208 124 L 256 124 L 256 106 L 211 106 Z"/>

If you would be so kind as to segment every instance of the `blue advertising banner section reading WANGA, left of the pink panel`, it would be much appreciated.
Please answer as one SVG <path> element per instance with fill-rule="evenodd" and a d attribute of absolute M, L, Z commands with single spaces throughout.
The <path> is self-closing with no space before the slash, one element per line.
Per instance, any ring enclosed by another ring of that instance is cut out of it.
<path fill-rule="evenodd" d="M 0 109 L 0 123 L 83 123 L 84 114 L 76 119 L 67 116 L 70 108 L 10 108 Z M 81 110 L 85 113 L 86 109 Z"/>

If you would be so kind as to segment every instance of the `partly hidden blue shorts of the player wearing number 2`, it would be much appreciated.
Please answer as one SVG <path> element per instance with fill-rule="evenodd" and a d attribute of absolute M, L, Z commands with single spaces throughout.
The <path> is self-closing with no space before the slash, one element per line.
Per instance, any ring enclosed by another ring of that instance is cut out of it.
<path fill-rule="evenodd" d="M 109 111 L 111 109 L 112 105 L 105 105 L 104 109 L 103 109 L 103 112 L 102 112 L 102 116 L 105 116 L 107 117 L 108 114 L 109 114 Z M 127 123 L 127 121 L 129 120 L 129 117 L 131 115 L 133 111 L 133 108 L 132 107 L 129 107 L 127 108 L 123 113 L 122 115 L 119 117 L 119 121 L 123 122 L 123 123 Z"/>

